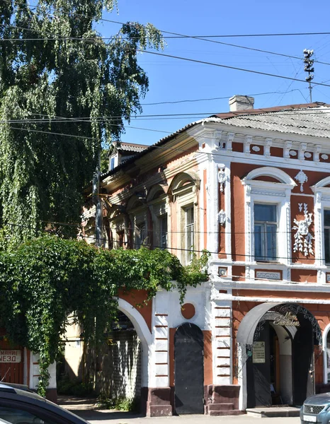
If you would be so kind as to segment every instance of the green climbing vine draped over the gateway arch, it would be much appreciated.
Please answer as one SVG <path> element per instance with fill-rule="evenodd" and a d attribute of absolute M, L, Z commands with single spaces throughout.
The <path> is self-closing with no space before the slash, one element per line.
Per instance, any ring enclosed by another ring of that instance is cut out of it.
<path fill-rule="evenodd" d="M 166 250 L 96 249 L 86 242 L 45 236 L 0 254 L 0 320 L 12 341 L 40 354 L 40 394 L 57 358 L 69 315 L 97 343 L 117 310 L 118 290 L 159 287 L 181 293 L 207 280 L 207 254 L 183 267 Z M 174 283 L 173 281 L 176 281 Z"/>

